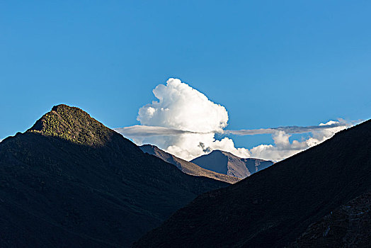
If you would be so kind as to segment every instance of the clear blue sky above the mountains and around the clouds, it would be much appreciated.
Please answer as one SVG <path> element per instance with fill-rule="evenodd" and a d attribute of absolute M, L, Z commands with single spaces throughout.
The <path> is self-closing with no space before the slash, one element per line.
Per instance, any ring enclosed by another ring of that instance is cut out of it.
<path fill-rule="evenodd" d="M 0 139 L 58 103 L 138 124 L 176 77 L 227 129 L 370 118 L 371 1 L 0 1 Z M 237 146 L 270 136 L 236 137 Z"/>

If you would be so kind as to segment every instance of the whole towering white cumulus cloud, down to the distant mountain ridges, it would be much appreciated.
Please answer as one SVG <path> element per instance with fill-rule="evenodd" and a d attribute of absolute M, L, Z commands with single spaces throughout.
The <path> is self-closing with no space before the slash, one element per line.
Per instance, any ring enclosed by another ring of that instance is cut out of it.
<path fill-rule="evenodd" d="M 216 149 L 232 152 L 239 157 L 250 156 L 249 150 L 237 149 L 228 137 L 215 140 L 215 133 L 222 133 L 228 123 L 224 106 L 213 103 L 179 79 L 169 79 L 166 85 L 159 84 L 153 93 L 158 101 L 140 108 L 137 116 L 141 125 L 151 128 L 123 128 L 118 132 L 139 145 L 151 143 L 187 160 Z M 150 135 L 132 134 L 139 129 Z M 167 134 L 161 135 L 164 132 Z"/>

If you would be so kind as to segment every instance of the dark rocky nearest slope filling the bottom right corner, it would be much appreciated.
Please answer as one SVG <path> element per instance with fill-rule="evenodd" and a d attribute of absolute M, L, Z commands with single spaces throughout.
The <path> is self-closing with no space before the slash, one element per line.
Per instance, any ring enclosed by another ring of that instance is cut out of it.
<path fill-rule="evenodd" d="M 370 247 L 371 193 L 331 211 L 307 230 L 290 248 Z"/>

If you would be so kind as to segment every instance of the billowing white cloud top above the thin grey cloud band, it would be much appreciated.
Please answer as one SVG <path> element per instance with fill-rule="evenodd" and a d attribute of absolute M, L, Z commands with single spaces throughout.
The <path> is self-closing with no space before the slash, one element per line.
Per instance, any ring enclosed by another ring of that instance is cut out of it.
<path fill-rule="evenodd" d="M 159 101 L 139 109 L 137 120 L 142 125 L 193 132 L 220 131 L 227 126 L 228 113 L 199 91 L 179 79 L 169 79 L 153 90 Z"/>

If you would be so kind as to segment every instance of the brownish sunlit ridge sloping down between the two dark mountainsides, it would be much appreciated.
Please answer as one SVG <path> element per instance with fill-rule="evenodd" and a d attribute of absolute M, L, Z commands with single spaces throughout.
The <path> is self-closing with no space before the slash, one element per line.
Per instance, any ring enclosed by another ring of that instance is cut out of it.
<path fill-rule="evenodd" d="M 224 174 L 219 174 L 215 171 L 209 171 L 207 169 L 203 169 L 202 167 L 199 167 L 197 164 L 193 164 L 184 159 L 178 158 L 174 156 L 173 154 L 170 154 L 168 152 L 165 152 L 159 149 L 159 147 L 156 147 L 155 145 L 142 145 L 139 148 L 143 152 L 147 152 L 148 154 L 152 154 L 156 157 L 159 157 L 160 159 L 170 164 L 174 164 L 178 169 L 180 169 L 181 171 L 189 175 L 206 176 L 206 177 L 210 177 L 211 179 L 225 181 L 229 184 L 234 184 L 240 180 L 234 176 L 227 176 Z"/>

